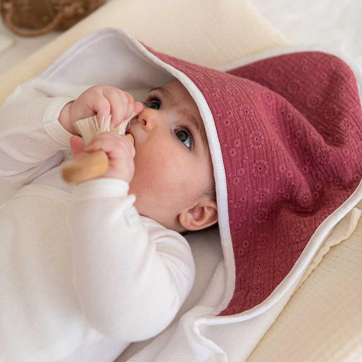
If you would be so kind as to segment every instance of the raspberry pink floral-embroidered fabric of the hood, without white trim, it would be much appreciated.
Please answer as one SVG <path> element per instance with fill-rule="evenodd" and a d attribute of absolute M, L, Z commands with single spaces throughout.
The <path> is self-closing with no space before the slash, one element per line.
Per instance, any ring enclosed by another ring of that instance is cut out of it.
<path fill-rule="evenodd" d="M 219 315 L 265 300 L 317 227 L 362 176 L 362 114 L 348 65 L 323 52 L 221 72 L 150 52 L 185 73 L 208 103 L 228 192 L 235 291 Z"/>

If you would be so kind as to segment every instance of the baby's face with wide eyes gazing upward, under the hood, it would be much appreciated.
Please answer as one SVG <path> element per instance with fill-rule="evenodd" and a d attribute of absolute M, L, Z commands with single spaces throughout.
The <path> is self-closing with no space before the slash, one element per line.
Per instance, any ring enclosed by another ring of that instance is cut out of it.
<path fill-rule="evenodd" d="M 143 105 L 128 129 L 136 149 L 129 194 L 136 195 L 134 205 L 140 215 L 181 232 L 188 228 L 180 227 L 179 215 L 200 204 L 214 180 L 209 147 L 202 138 L 206 137 L 203 121 L 178 80 L 151 91 Z"/>

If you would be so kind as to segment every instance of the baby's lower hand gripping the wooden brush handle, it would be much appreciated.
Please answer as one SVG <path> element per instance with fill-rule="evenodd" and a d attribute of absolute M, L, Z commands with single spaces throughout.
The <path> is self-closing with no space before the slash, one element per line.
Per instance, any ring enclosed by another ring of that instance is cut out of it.
<path fill-rule="evenodd" d="M 104 132 L 92 138 L 87 147 L 79 136 L 70 137 L 70 147 L 73 157 L 85 152 L 103 150 L 110 160 L 106 173 L 101 177 L 115 177 L 130 183 L 134 175 L 134 145 L 125 135 L 116 132 Z"/>

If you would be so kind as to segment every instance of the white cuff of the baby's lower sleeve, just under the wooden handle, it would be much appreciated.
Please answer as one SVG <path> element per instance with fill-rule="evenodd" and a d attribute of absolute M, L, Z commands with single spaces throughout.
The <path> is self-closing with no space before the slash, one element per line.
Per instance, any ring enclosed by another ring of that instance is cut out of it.
<path fill-rule="evenodd" d="M 87 199 L 131 197 L 132 203 L 135 195 L 128 195 L 129 184 L 125 180 L 112 177 L 96 178 L 76 185 L 72 193 L 72 202 Z"/>

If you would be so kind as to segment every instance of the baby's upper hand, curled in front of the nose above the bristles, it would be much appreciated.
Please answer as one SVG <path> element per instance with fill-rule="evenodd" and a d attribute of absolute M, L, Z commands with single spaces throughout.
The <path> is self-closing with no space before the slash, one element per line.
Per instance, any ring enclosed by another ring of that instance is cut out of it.
<path fill-rule="evenodd" d="M 135 102 L 128 92 L 109 85 L 95 85 L 63 107 L 59 123 L 71 134 L 79 135 L 74 122 L 94 115 L 100 122 L 102 116 L 107 118 L 112 115 L 110 129 L 114 130 L 131 117 L 132 112 L 140 113 L 142 110 L 143 104 Z"/>

